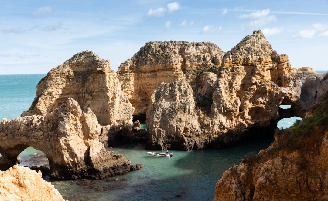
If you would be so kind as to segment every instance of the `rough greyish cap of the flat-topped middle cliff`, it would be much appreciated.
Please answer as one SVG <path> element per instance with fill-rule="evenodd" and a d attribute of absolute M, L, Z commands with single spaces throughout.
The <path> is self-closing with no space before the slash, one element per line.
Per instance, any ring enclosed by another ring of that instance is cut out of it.
<path fill-rule="evenodd" d="M 211 42 L 152 41 L 146 42 L 140 50 L 123 62 L 117 73 L 143 71 L 144 66 L 171 64 L 174 68 L 197 68 L 220 65 L 224 52 Z M 147 68 L 146 68 L 147 69 Z"/>

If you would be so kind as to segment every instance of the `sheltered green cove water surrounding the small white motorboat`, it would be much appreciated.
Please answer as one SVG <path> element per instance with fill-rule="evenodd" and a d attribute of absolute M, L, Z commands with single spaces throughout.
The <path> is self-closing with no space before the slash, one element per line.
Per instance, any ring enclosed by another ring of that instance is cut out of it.
<path fill-rule="evenodd" d="M 128 144 L 108 150 L 142 164 L 140 170 L 115 176 L 115 181 L 95 180 L 92 189 L 77 185 L 79 181 L 51 183 L 69 200 L 212 200 L 224 171 L 239 164 L 246 153 L 265 149 L 271 142 L 273 138 L 220 150 L 169 150 L 172 158 L 151 157 L 144 144 Z"/>

